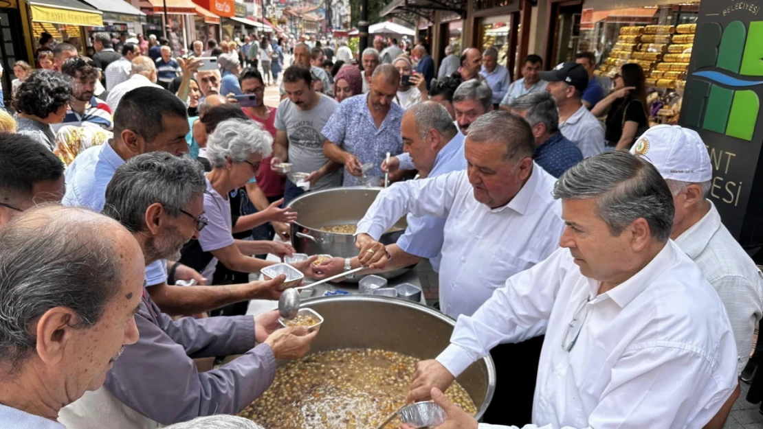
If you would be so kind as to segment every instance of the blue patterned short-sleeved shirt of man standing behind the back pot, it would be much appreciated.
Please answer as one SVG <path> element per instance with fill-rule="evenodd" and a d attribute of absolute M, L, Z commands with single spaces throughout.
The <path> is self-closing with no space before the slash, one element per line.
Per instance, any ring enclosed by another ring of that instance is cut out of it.
<path fill-rule="evenodd" d="M 400 122 L 405 110 L 392 103 L 381 126 L 377 129 L 367 102 L 369 94 L 350 97 L 340 103 L 324 126 L 323 135 L 336 146 L 355 155 L 361 164 L 372 162 L 368 177 L 383 178 L 381 162 L 387 152 L 392 156 L 403 153 Z M 359 178 L 344 172 L 344 186 L 358 186 Z"/>

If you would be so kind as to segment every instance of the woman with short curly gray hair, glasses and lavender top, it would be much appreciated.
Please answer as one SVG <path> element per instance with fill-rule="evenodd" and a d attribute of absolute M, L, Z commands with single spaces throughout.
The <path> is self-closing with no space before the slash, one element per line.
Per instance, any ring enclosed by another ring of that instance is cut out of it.
<path fill-rule="evenodd" d="M 212 171 L 207 173 L 207 190 L 204 191 L 204 212 L 208 226 L 199 232 L 198 245 L 186 246 L 183 258 L 193 259 L 192 266 L 203 267 L 201 274 L 213 280 L 217 261 L 230 271 L 256 273 L 272 261 L 247 255 L 273 253 L 291 255 L 292 248 L 269 241 L 233 239 L 234 232 L 251 229 L 240 222 L 233 223 L 229 194 L 244 187 L 254 178 L 262 158 L 270 155 L 272 137 L 253 120 L 231 119 L 219 123 L 207 139 L 207 157 Z M 295 264 L 305 274 L 312 274 L 309 267 L 314 258 Z M 275 296 L 274 298 L 278 298 Z"/>

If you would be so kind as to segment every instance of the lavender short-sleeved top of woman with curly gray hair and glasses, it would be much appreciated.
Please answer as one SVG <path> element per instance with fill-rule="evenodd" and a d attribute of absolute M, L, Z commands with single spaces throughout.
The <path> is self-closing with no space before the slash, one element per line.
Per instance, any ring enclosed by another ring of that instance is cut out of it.
<path fill-rule="evenodd" d="M 198 244 L 202 251 L 213 251 L 233 244 L 233 219 L 230 216 L 230 200 L 217 194 L 207 179 L 204 192 L 204 216 L 208 225 L 198 233 Z M 204 278 L 211 279 L 217 268 L 217 258 L 212 258 L 201 271 Z"/>

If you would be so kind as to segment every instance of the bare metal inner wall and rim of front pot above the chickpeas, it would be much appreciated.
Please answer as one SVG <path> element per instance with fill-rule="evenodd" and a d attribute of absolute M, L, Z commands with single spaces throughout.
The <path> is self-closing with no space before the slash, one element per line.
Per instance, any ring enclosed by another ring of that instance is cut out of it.
<path fill-rule="evenodd" d="M 328 296 L 306 299 L 302 307 L 314 309 L 325 319 L 311 351 L 363 347 L 434 359 L 450 344 L 456 325 L 435 309 L 385 296 Z M 488 355 L 472 363 L 457 380 L 477 405 L 479 419 L 495 391 L 493 360 Z"/>

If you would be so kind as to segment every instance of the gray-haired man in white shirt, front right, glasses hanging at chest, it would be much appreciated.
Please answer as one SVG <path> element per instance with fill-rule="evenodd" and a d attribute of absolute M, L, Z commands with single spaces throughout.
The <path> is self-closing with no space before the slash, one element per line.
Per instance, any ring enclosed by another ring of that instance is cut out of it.
<path fill-rule="evenodd" d="M 499 427 L 441 391 L 494 344 L 545 330 L 526 428 L 703 427 L 736 387 L 736 344 L 718 294 L 670 240 L 668 184 L 608 152 L 566 171 L 554 197 L 562 248 L 459 317 L 449 347 L 417 364 L 408 399 L 443 405 L 441 429 Z"/>

